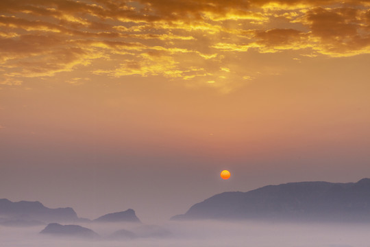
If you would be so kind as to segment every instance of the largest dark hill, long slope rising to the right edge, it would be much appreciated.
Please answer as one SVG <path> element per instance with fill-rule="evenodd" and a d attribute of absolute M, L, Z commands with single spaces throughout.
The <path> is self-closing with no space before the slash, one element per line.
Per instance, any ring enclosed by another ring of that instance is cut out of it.
<path fill-rule="evenodd" d="M 220 193 L 171 220 L 258 219 L 370 221 L 370 179 L 301 182 Z"/>

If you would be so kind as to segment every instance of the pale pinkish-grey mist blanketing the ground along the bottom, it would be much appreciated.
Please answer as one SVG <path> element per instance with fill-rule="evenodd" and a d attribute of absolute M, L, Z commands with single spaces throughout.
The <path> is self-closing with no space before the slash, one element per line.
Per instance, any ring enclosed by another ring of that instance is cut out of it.
<path fill-rule="evenodd" d="M 40 234 L 45 226 L 0 226 L 1 247 L 273 246 L 369 247 L 370 224 L 220 222 L 214 220 L 145 224 L 79 224 L 100 237 L 84 239 Z M 134 237 L 113 237 L 119 230 Z"/>

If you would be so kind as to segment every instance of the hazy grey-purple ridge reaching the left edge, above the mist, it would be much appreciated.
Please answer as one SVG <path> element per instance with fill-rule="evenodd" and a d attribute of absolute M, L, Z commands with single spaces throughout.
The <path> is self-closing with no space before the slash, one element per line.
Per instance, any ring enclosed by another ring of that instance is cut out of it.
<path fill-rule="evenodd" d="M 77 220 L 77 214 L 70 208 L 49 209 L 41 202 L 11 202 L 0 199 L 0 215 L 10 220 L 66 222 Z"/>

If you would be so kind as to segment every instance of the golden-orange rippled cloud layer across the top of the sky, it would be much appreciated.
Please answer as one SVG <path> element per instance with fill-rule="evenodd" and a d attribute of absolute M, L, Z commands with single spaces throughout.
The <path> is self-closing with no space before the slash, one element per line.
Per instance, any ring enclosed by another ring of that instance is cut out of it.
<path fill-rule="evenodd" d="M 248 51 L 370 53 L 367 0 L 3 0 L 0 10 L 0 80 L 10 85 L 84 67 L 225 86 L 256 76 L 225 66 Z"/>

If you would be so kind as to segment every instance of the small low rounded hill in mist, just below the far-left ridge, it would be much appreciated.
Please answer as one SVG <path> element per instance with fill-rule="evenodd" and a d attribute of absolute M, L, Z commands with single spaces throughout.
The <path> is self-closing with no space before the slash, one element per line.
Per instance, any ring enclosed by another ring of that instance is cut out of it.
<path fill-rule="evenodd" d="M 61 225 L 58 223 L 48 224 L 44 230 L 40 231 L 42 234 L 69 236 L 69 237 L 84 237 L 96 238 L 99 237 L 97 233 L 89 228 L 77 225 Z"/>

